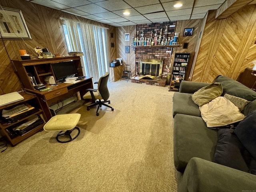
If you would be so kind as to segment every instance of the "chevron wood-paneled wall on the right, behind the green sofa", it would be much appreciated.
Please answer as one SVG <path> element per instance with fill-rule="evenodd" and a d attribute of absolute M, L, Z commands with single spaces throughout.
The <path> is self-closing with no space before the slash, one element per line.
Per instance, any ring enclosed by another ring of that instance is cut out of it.
<path fill-rule="evenodd" d="M 236 80 L 256 59 L 256 6 L 248 5 L 225 19 L 209 11 L 192 81 L 212 82 L 218 75 Z"/>

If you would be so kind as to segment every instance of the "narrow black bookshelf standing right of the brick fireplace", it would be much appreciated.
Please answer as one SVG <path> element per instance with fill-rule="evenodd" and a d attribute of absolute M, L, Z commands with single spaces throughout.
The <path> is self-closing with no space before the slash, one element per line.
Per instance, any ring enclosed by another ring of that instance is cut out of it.
<path fill-rule="evenodd" d="M 189 61 L 190 53 L 175 53 L 170 89 L 172 88 L 178 90 L 180 88 L 180 82 L 182 80 L 186 80 Z"/>

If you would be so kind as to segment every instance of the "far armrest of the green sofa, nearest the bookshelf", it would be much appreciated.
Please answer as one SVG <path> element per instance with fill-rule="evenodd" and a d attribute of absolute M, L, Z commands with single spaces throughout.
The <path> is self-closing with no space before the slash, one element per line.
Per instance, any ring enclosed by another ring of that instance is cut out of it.
<path fill-rule="evenodd" d="M 194 81 L 182 81 L 180 83 L 179 92 L 181 93 L 194 93 L 200 88 L 209 85 L 210 83 L 194 82 Z"/>

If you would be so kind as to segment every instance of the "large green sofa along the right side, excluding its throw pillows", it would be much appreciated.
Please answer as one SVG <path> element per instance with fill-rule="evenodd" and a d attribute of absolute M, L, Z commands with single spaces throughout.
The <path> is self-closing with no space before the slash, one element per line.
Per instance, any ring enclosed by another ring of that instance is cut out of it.
<path fill-rule="evenodd" d="M 224 94 L 251 101 L 245 116 L 256 110 L 256 92 L 225 76 L 217 76 Z M 214 163 L 218 129 L 207 128 L 192 94 L 209 83 L 182 81 L 173 96 L 174 165 L 178 192 L 242 192 L 256 190 L 256 175 Z"/>

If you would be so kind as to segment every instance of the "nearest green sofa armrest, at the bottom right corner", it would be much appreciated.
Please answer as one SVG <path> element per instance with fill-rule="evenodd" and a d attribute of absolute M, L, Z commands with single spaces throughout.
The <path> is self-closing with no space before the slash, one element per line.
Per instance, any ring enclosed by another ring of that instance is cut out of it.
<path fill-rule="evenodd" d="M 178 192 L 256 190 L 256 175 L 193 157 L 178 182 Z"/>

